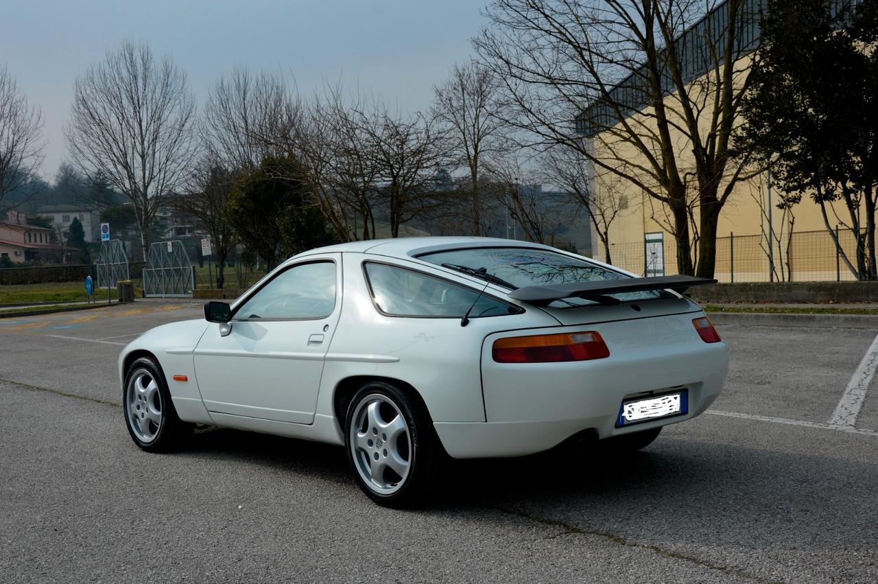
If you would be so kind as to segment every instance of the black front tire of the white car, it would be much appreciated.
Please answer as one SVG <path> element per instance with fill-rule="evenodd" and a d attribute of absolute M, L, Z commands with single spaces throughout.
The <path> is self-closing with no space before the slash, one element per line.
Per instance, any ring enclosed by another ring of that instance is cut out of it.
<path fill-rule="evenodd" d="M 146 381 L 147 387 L 155 381 L 155 390 L 141 395 L 139 399 L 138 379 L 140 386 Z M 153 407 L 152 410 L 148 410 L 147 403 Z M 157 423 L 155 416 L 147 417 L 150 412 L 155 414 L 156 411 L 161 414 Z M 122 386 L 122 413 L 131 439 L 140 449 L 148 452 L 174 450 L 194 427 L 176 415 L 162 368 L 149 357 L 140 357 L 126 371 L 125 385 Z"/>

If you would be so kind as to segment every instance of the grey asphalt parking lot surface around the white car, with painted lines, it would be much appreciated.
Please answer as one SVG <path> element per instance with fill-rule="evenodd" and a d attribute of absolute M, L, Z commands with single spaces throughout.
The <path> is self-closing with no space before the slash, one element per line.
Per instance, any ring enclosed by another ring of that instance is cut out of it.
<path fill-rule="evenodd" d="M 0 580 L 878 580 L 876 330 L 726 325 L 723 395 L 635 457 L 458 464 L 442 501 L 403 512 L 366 499 L 340 448 L 208 429 L 139 451 L 119 350 L 200 314 L 0 320 Z"/>

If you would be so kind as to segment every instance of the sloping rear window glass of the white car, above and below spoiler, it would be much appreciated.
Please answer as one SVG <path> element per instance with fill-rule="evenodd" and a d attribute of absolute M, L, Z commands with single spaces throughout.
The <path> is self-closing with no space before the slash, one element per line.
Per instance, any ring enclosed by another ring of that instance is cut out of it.
<path fill-rule="evenodd" d="M 419 259 L 436 264 L 456 264 L 472 270 L 485 268 L 486 273 L 505 281 L 513 289 L 526 286 L 594 282 L 629 278 L 617 271 L 608 270 L 587 259 L 565 256 L 546 249 L 528 248 L 477 248 L 452 249 L 419 256 Z M 669 292 L 620 292 L 611 294 L 622 302 L 673 298 Z M 556 300 L 549 306 L 590 306 L 592 300 L 567 298 Z"/>

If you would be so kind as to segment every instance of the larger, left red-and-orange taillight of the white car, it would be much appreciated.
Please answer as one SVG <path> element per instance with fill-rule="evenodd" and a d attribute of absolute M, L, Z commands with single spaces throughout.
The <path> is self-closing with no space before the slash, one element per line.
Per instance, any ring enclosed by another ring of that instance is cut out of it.
<path fill-rule="evenodd" d="M 555 363 L 609 357 L 607 343 L 594 331 L 497 339 L 492 352 L 497 363 Z"/>

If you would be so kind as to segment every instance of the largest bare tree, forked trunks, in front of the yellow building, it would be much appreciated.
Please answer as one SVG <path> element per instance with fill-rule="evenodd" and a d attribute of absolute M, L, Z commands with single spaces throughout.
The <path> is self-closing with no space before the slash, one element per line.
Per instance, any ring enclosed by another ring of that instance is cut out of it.
<path fill-rule="evenodd" d="M 741 57 L 758 20 L 749 5 L 493 0 L 474 44 L 503 82 L 510 124 L 534 144 L 576 149 L 596 171 L 666 205 L 680 273 L 710 277 L 719 213 L 748 162 L 732 160 L 729 145 L 749 83 Z M 688 189 L 698 201 L 697 250 Z"/>

